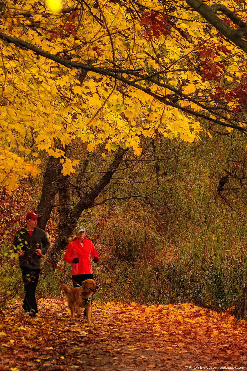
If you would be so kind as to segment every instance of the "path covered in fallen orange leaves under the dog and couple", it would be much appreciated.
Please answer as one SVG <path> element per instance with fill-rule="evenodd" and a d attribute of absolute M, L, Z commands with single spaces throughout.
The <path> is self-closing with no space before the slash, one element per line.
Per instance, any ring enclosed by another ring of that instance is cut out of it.
<path fill-rule="evenodd" d="M 246 322 L 227 314 L 188 303 L 94 302 L 88 326 L 71 321 L 64 300 L 39 299 L 38 307 L 34 318 L 20 302 L 0 313 L 0 370 L 247 370 Z"/>

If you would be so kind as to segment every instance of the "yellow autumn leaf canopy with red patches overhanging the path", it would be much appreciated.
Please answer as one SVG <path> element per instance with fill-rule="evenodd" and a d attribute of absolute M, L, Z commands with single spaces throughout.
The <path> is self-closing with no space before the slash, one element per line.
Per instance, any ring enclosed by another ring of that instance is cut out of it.
<path fill-rule="evenodd" d="M 198 4 L 2 1 L 0 184 L 38 174 L 44 152 L 73 173 L 73 141 L 139 155 L 142 137 L 192 142 L 205 122 L 245 132 L 246 1 L 207 1 L 212 22 Z"/>

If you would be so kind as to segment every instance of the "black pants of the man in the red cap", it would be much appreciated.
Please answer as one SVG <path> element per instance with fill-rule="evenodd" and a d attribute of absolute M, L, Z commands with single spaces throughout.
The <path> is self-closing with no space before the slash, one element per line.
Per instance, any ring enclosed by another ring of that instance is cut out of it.
<path fill-rule="evenodd" d="M 38 313 L 35 289 L 39 280 L 40 269 L 30 269 L 24 266 L 20 267 L 20 269 L 22 270 L 22 279 L 25 292 L 22 308 L 27 312 L 30 312 L 31 309 L 34 309 L 35 313 Z"/>

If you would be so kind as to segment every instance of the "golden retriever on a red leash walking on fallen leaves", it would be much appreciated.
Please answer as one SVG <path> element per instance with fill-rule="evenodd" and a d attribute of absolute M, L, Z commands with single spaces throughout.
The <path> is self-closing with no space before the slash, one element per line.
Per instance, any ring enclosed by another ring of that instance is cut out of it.
<path fill-rule="evenodd" d="M 82 282 L 81 287 L 74 287 L 69 290 L 65 283 L 62 283 L 61 288 L 63 289 L 66 298 L 68 299 L 68 307 L 71 310 L 71 319 L 75 319 L 75 312 L 77 317 L 81 316 L 81 308 L 85 308 L 87 311 L 87 323 L 91 324 L 91 297 L 93 292 L 98 291 L 98 286 L 93 279 L 85 279 Z"/>

